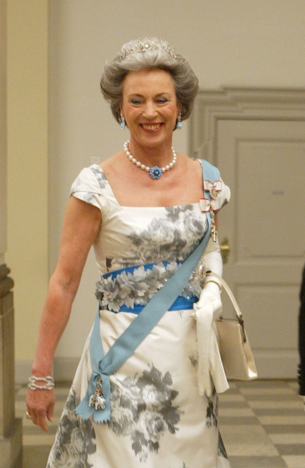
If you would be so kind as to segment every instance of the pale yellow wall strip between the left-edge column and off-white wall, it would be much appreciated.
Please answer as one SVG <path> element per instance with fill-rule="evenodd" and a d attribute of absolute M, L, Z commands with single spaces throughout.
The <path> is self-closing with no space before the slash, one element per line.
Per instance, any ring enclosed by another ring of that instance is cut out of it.
<path fill-rule="evenodd" d="M 27 377 L 49 281 L 49 4 L 48 0 L 6 3 L 5 261 L 14 279 L 16 364 Z"/>

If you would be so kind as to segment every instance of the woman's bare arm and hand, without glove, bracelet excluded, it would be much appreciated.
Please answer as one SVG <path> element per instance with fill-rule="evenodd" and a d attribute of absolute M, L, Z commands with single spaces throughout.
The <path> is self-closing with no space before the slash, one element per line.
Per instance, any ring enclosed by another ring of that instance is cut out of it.
<path fill-rule="evenodd" d="M 32 366 L 32 373 L 37 377 L 44 377 L 52 371 L 54 352 L 69 320 L 89 249 L 99 233 L 100 221 L 101 213 L 97 207 L 70 197 L 64 216 L 58 263 L 50 279 L 39 326 Z M 29 390 L 27 406 L 33 422 L 46 431 L 45 416 L 48 419 L 52 417 L 54 392 Z"/>

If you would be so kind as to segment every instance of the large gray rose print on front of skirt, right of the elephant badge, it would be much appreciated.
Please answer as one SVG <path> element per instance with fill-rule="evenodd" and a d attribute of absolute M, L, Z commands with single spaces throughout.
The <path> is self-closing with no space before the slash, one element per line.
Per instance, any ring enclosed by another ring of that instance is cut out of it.
<path fill-rule="evenodd" d="M 178 431 L 181 411 L 173 405 L 178 392 L 171 385 L 170 373 L 162 375 L 152 366 L 150 371 L 111 388 L 109 427 L 117 435 L 130 437 L 140 461 L 145 461 L 149 452 L 158 453 L 165 431 Z"/>

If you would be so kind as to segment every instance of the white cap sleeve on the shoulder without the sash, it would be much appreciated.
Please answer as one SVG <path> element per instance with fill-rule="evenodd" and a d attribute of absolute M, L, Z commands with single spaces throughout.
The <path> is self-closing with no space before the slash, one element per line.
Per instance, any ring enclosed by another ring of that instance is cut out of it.
<path fill-rule="evenodd" d="M 103 172 L 96 171 L 92 166 L 82 169 L 71 185 L 70 195 L 96 206 L 102 212 L 105 205 L 102 176 Z"/>

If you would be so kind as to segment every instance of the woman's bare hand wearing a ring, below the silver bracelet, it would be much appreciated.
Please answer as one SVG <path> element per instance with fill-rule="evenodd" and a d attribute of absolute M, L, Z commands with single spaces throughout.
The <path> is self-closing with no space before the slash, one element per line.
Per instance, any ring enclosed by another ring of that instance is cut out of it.
<path fill-rule="evenodd" d="M 43 382 L 42 382 L 43 383 Z M 51 422 L 55 405 L 53 390 L 30 390 L 26 396 L 27 411 L 32 423 L 48 432 L 46 418 Z"/>

